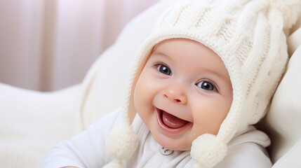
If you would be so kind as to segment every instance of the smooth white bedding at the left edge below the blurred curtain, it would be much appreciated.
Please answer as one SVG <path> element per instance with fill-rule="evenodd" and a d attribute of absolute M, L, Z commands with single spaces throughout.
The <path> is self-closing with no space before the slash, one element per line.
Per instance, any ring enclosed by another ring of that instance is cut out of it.
<path fill-rule="evenodd" d="M 52 146 L 74 134 L 79 88 L 43 93 L 0 83 L 0 167 L 38 167 Z"/>

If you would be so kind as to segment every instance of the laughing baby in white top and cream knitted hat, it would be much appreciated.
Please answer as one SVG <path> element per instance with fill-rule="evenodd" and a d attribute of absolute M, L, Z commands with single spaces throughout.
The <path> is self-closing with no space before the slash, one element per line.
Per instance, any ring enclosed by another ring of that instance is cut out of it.
<path fill-rule="evenodd" d="M 299 0 L 185 0 L 142 44 L 126 104 L 42 167 L 272 167 L 253 126 L 286 69 Z"/>

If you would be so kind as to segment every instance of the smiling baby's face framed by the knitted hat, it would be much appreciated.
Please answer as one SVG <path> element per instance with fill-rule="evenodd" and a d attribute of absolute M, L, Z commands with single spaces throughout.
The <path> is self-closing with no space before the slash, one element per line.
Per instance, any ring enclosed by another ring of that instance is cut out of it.
<path fill-rule="evenodd" d="M 232 104 L 232 84 L 213 50 L 174 38 L 155 46 L 136 83 L 134 104 L 161 146 L 189 151 L 199 135 L 218 133 Z"/>

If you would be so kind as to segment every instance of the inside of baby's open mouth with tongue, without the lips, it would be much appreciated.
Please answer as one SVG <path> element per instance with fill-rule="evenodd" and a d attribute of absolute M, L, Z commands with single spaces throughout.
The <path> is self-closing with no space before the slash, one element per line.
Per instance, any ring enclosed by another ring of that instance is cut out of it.
<path fill-rule="evenodd" d="M 186 125 L 188 123 L 187 120 L 182 120 L 180 118 L 177 118 L 176 116 L 166 113 L 165 111 L 163 111 L 163 113 L 162 113 L 162 120 L 163 120 L 163 123 L 167 127 L 170 127 L 173 129 L 183 127 L 184 125 Z"/>

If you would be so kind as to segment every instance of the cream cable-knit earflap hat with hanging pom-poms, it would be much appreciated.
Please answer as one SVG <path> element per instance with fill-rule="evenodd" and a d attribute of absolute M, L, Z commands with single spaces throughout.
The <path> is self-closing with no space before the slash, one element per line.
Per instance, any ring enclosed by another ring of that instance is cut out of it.
<path fill-rule="evenodd" d="M 124 127 L 112 132 L 107 143 L 116 160 L 106 167 L 122 167 L 122 160 L 135 153 L 133 88 L 149 52 L 168 38 L 188 38 L 212 49 L 232 81 L 232 106 L 218 134 L 200 135 L 192 143 L 195 166 L 214 167 L 227 154 L 234 134 L 265 116 L 288 61 L 283 30 L 295 23 L 300 10 L 300 0 L 185 0 L 170 6 L 135 57 L 123 106 Z"/>

